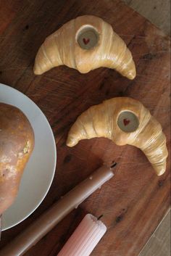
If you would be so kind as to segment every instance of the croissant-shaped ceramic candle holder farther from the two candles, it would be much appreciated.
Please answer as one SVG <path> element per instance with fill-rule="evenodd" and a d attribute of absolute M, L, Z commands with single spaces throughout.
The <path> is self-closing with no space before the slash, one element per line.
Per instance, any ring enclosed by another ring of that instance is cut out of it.
<path fill-rule="evenodd" d="M 112 26 L 99 17 L 85 15 L 65 23 L 47 37 L 35 59 L 33 71 L 41 75 L 52 67 L 66 65 L 80 73 L 98 67 L 117 70 L 135 78 L 135 64 L 126 44 Z"/>

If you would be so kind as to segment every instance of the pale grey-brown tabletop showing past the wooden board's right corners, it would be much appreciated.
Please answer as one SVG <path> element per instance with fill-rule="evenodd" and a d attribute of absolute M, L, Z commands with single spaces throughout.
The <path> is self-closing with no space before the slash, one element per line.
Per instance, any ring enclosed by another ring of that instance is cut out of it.
<path fill-rule="evenodd" d="M 123 0 L 136 12 L 146 17 L 164 33 L 170 35 L 170 0 Z M 168 256 L 170 255 L 170 212 L 162 220 L 157 231 L 154 231 L 148 244 L 139 256 Z M 164 239 L 164 243 L 161 243 Z"/>

